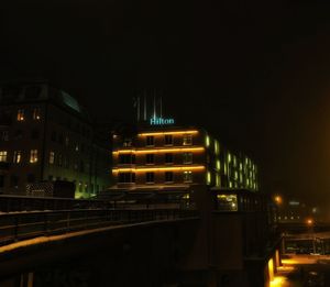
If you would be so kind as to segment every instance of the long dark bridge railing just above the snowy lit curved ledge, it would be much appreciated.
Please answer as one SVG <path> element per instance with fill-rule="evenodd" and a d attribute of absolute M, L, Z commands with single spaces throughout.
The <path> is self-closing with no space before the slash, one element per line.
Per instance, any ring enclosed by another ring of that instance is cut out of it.
<path fill-rule="evenodd" d="M 197 216 L 196 210 L 185 209 L 89 209 L 3 213 L 0 214 L 0 245 L 72 231 Z"/>

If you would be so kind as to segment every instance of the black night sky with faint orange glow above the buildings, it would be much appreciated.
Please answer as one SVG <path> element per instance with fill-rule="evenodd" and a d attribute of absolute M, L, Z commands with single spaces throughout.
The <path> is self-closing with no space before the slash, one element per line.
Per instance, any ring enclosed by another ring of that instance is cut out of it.
<path fill-rule="evenodd" d="M 132 119 L 134 93 L 156 89 L 168 115 L 254 156 L 266 190 L 330 202 L 322 2 L 12 0 L 0 79 L 47 78 L 102 120 Z"/>

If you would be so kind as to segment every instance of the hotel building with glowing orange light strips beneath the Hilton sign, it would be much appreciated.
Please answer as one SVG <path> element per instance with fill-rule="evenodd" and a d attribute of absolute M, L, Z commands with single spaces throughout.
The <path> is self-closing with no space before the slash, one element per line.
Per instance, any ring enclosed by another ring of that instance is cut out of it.
<path fill-rule="evenodd" d="M 117 188 L 184 187 L 202 184 L 258 190 L 257 167 L 202 129 L 148 126 L 133 135 L 113 134 Z"/>

